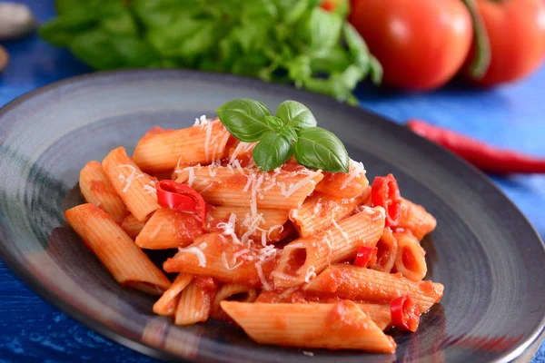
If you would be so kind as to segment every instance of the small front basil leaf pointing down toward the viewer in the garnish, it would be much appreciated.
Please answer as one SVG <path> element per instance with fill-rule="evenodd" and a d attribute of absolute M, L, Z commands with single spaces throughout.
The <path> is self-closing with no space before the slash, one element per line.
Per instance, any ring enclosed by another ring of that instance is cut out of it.
<path fill-rule="evenodd" d="M 262 171 L 269 172 L 282 166 L 292 154 L 292 142 L 276 132 L 269 132 L 253 148 L 253 162 Z"/>

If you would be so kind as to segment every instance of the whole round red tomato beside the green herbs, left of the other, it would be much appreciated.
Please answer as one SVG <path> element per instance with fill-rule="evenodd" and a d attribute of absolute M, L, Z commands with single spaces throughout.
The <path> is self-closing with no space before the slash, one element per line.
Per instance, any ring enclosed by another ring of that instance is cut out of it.
<path fill-rule="evenodd" d="M 461 0 L 354 0 L 349 17 L 384 68 L 384 83 L 430 90 L 470 52 L 471 15 Z"/>

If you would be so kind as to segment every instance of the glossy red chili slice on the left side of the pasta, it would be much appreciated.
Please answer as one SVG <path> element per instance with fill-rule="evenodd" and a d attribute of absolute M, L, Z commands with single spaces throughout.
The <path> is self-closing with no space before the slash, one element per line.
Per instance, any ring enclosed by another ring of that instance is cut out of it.
<path fill-rule="evenodd" d="M 173 181 L 157 182 L 155 189 L 160 206 L 179 211 L 191 211 L 201 218 L 204 224 L 206 202 L 201 194 L 185 184 Z"/>

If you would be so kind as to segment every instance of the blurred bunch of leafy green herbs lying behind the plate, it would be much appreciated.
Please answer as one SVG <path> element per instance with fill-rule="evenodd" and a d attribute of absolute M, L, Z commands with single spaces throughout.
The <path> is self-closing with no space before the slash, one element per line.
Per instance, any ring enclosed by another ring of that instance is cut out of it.
<path fill-rule="evenodd" d="M 294 83 L 356 103 L 381 65 L 321 0 L 56 0 L 41 36 L 97 70 L 195 68 Z M 346 7 L 341 7 L 346 9 Z M 342 11 L 342 13 L 346 13 Z"/>

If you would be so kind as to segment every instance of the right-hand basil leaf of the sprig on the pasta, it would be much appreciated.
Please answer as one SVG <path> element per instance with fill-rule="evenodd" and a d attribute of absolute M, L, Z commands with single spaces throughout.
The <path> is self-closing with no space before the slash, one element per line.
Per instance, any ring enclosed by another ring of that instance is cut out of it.
<path fill-rule="evenodd" d="M 348 172 L 349 157 L 341 140 L 334 133 L 320 127 L 311 127 L 297 132 L 295 159 L 310 169 L 325 172 Z"/>

